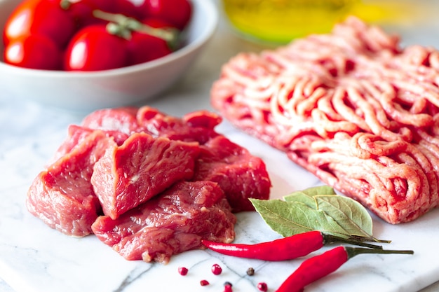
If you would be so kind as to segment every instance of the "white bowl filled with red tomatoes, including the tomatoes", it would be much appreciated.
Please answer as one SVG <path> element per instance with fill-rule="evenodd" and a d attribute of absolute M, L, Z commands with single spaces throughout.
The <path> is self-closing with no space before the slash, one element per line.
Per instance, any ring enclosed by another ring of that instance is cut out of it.
<path fill-rule="evenodd" d="M 170 88 L 217 26 L 211 0 L 0 0 L 0 90 L 74 111 Z"/>

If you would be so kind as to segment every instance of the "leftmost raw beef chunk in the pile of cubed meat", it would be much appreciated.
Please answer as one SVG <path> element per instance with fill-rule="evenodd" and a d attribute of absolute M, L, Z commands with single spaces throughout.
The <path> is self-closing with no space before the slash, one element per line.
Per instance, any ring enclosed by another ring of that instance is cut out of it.
<path fill-rule="evenodd" d="M 113 139 L 102 131 L 83 136 L 69 153 L 36 176 L 27 193 L 30 213 L 67 235 L 90 234 L 101 211 L 90 177 L 95 162 L 112 145 Z"/>

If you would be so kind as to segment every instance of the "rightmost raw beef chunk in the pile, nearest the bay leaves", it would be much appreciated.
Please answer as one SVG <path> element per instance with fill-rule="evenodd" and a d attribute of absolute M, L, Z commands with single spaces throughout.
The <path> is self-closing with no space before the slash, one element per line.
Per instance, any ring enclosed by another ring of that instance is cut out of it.
<path fill-rule="evenodd" d="M 254 210 L 249 197 L 268 199 L 271 182 L 264 162 L 224 136 L 201 145 L 194 181 L 215 181 L 233 211 Z"/>

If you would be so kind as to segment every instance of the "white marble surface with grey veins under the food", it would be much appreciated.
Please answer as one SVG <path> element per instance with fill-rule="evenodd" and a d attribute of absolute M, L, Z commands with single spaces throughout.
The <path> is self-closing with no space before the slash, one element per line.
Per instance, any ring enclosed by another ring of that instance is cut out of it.
<path fill-rule="evenodd" d="M 439 48 L 438 26 L 392 29 L 403 35 L 406 44 Z M 221 64 L 240 51 L 261 48 L 236 38 L 222 22 L 208 50 L 187 76 L 148 104 L 176 116 L 211 109 L 210 85 Z M 27 188 L 67 135 L 67 126 L 79 123 L 84 115 L 44 108 L 0 92 L 0 291 L 222 291 L 224 281 L 231 281 L 236 292 L 256 292 L 259 281 L 265 281 L 269 291 L 274 291 L 299 265 L 300 260 L 265 263 L 209 251 L 182 253 L 168 265 L 128 262 L 93 236 L 70 238 L 43 225 L 25 209 Z M 264 159 L 273 182 L 273 197 L 319 183 L 283 153 L 235 130 L 227 122 L 218 130 Z M 413 223 L 396 226 L 374 218 L 376 237 L 392 239 L 389 248 L 413 249 L 414 256 L 358 256 L 306 291 L 439 291 L 439 284 L 433 284 L 439 280 L 438 224 L 439 209 Z M 236 232 L 236 242 L 277 237 L 255 213 L 238 214 Z M 222 265 L 222 275 L 210 273 L 212 263 Z M 177 273 L 180 265 L 189 267 L 186 277 Z M 256 270 L 253 277 L 245 274 L 250 266 Z M 201 279 L 207 279 L 210 285 L 200 286 Z"/>

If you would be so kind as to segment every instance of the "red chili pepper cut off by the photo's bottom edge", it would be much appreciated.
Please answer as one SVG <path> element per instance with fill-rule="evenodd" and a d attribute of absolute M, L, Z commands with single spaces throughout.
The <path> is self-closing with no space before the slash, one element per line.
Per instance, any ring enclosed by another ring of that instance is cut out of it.
<path fill-rule="evenodd" d="M 304 260 L 295 272 L 276 290 L 276 292 L 299 292 L 306 285 L 335 272 L 347 260 L 360 253 L 405 253 L 413 254 L 413 251 L 395 251 L 386 249 L 366 249 L 361 247 L 338 246 L 335 249 L 325 251 L 318 256 Z"/>

